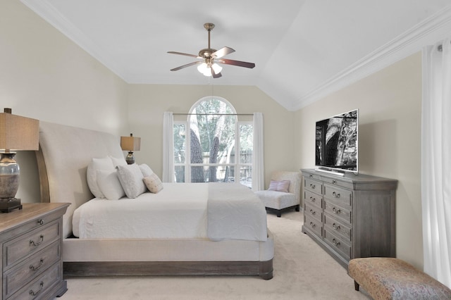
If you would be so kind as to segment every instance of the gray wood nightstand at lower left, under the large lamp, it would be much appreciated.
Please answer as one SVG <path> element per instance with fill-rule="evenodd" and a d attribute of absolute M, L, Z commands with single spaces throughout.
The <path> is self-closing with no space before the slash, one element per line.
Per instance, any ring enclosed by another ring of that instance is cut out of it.
<path fill-rule="evenodd" d="M 69 204 L 23 204 L 0 213 L 2 299 L 54 299 L 63 280 L 63 214 Z"/>

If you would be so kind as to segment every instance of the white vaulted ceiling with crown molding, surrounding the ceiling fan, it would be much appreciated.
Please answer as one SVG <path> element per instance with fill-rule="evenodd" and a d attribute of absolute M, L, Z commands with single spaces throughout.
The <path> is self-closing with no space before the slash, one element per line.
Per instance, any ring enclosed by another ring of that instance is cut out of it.
<path fill-rule="evenodd" d="M 129 83 L 256 85 L 291 111 L 451 35 L 449 0 L 21 0 Z M 222 77 L 195 66 L 230 46 Z"/>

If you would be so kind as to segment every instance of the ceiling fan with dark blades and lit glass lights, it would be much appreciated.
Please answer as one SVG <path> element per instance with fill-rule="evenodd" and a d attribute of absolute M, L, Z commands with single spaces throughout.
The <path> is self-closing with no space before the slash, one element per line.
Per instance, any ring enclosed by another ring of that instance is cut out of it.
<path fill-rule="evenodd" d="M 245 68 L 254 68 L 255 63 L 247 63 L 245 61 L 234 61 L 232 59 L 226 59 L 223 58 L 223 56 L 226 56 L 228 54 L 231 54 L 235 52 L 230 47 L 223 47 L 219 50 L 211 49 L 210 47 L 210 32 L 214 28 L 213 23 L 205 23 L 204 28 L 209 32 L 209 44 L 208 48 L 202 49 L 199 51 L 199 55 L 194 54 L 186 54 L 182 52 L 175 52 L 175 51 L 168 51 L 169 54 L 178 54 L 178 55 L 184 55 L 184 56 L 191 56 L 194 58 L 199 58 L 201 61 L 194 61 L 192 63 L 187 63 L 186 65 L 180 65 L 180 67 L 173 68 L 171 71 L 177 71 L 183 68 L 190 67 L 191 65 L 197 65 L 197 70 L 199 70 L 200 73 L 204 74 L 205 76 L 212 76 L 214 78 L 221 77 L 221 65 L 218 65 L 218 63 L 223 63 L 226 65 L 237 65 L 239 67 L 245 67 Z"/>

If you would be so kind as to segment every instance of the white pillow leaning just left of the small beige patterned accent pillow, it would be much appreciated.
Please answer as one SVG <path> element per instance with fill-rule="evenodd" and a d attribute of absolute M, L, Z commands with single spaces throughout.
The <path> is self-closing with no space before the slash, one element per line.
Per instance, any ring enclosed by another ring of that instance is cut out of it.
<path fill-rule="evenodd" d="M 128 198 L 136 198 L 147 191 L 146 185 L 142 181 L 142 172 L 136 163 L 132 165 L 118 165 L 116 167 L 119 181 Z"/>

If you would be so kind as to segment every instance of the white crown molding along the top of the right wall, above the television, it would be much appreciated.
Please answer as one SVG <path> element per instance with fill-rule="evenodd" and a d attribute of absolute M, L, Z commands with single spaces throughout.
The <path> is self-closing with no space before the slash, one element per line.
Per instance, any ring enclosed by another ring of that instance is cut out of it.
<path fill-rule="evenodd" d="M 319 99 L 338 91 L 357 80 L 371 75 L 378 70 L 400 61 L 429 44 L 435 44 L 440 39 L 449 37 L 451 32 L 451 5 L 435 13 L 404 34 L 379 47 L 371 54 L 364 56 L 356 63 L 345 68 L 340 73 L 330 77 L 322 85 L 308 94 L 295 100 L 294 109 L 298 110 Z"/>

